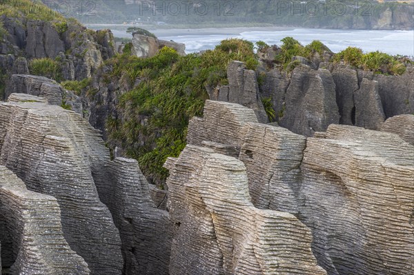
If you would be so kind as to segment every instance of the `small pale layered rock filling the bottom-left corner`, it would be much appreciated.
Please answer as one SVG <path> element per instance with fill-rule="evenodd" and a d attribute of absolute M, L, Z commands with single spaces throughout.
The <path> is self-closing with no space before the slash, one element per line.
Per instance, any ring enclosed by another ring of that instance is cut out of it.
<path fill-rule="evenodd" d="M 11 274 L 90 274 L 86 262 L 63 238 L 56 198 L 27 190 L 4 166 L 0 166 L 0 242 L 0 271 L 2 264 Z"/>

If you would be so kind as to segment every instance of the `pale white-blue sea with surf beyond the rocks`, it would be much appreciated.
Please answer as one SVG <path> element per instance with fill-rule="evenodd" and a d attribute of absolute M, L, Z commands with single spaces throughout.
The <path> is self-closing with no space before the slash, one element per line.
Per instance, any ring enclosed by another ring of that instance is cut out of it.
<path fill-rule="evenodd" d="M 364 52 L 379 50 L 388 54 L 414 56 L 413 30 L 327 30 L 314 28 L 209 28 L 150 30 L 159 39 L 186 44 L 186 52 L 213 49 L 221 40 L 240 38 L 248 41 L 264 41 L 269 45 L 281 45 L 284 37 L 293 37 L 302 45 L 313 40 L 322 41 L 333 52 L 348 46 L 361 48 Z M 112 30 L 117 37 L 130 37 L 120 30 Z"/>

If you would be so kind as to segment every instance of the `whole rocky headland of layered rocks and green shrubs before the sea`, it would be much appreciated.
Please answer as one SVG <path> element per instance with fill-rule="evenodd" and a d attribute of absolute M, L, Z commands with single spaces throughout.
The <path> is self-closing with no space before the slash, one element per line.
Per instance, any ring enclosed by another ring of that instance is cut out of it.
<path fill-rule="evenodd" d="M 0 274 L 412 275 L 411 59 L 0 26 Z"/>

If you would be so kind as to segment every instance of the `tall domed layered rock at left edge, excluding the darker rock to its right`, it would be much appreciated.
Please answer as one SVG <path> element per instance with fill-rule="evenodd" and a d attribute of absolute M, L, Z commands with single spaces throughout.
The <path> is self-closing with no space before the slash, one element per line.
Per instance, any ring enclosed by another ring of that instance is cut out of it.
<path fill-rule="evenodd" d="M 94 181 L 109 160 L 97 130 L 56 105 L 0 103 L 0 113 L 1 165 L 28 190 L 57 198 L 66 241 L 91 274 L 121 274 L 119 232 Z"/>

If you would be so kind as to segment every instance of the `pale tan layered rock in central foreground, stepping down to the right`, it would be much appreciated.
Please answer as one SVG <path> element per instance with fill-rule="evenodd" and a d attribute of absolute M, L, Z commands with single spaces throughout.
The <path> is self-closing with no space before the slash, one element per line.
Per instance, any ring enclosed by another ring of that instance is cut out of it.
<path fill-rule="evenodd" d="M 326 274 L 295 216 L 253 206 L 242 161 L 187 145 L 166 167 L 170 274 Z"/>

